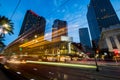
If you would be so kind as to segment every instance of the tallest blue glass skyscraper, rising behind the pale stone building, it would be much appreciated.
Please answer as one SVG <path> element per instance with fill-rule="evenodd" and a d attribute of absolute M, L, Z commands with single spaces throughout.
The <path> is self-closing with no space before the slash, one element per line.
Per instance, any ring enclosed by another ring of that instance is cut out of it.
<path fill-rule="evenodd" d="M 90 0 L 87 20 L 92 40 L 98 41 L 103 28 L 120 24 L 110 0 Z"/>

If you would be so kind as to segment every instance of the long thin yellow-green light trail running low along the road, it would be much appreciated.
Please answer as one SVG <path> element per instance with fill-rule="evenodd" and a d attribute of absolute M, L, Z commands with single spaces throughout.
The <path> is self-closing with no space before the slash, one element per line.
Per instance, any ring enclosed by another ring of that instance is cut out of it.
<path fill-rule="evenodd" d="M 72 67 L 72 68 L 96 68 L 96 66 L 93 66 L 93 65 L 56 63 L 56 62 L 26 61 L 26 63 L 53 65 L 53 66 L 61 66 L 61 67 Z"/>

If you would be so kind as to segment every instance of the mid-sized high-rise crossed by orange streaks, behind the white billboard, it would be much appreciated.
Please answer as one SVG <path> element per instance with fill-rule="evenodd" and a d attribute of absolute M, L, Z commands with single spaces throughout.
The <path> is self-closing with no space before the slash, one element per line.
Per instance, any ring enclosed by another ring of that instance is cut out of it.
<path fill-rule="evenodd" d="M 61 36 L 67 35 L 67 22 L 59 19 L 54 20 L 52 25 L 52 40 L 60 40 Z"/>

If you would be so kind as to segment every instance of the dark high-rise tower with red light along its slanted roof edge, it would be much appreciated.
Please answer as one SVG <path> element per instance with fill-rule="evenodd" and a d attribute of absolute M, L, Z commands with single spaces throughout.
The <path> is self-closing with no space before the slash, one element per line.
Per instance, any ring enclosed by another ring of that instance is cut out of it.
<path fill-rule="evenodd" d="M 19 33 L 20 35 L 30 32 L 33 35 L 44 36 L 46 20 L 44 17 L 37 15 L 32 10 L 28 10 L 25 14 L 23 24 Z M 27 35 L 29 37 L 29 35 Z"/>

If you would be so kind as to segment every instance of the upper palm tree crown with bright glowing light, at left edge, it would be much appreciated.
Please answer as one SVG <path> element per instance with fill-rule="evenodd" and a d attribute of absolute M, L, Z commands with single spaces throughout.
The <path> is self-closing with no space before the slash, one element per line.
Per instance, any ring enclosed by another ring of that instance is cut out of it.
<path fill-rule="evenodd" d="M 9 35 L 13 33 L 13 23 L 5 16 L 0 16 L 0 37 L 5 37 L 5 34 Z"/>

